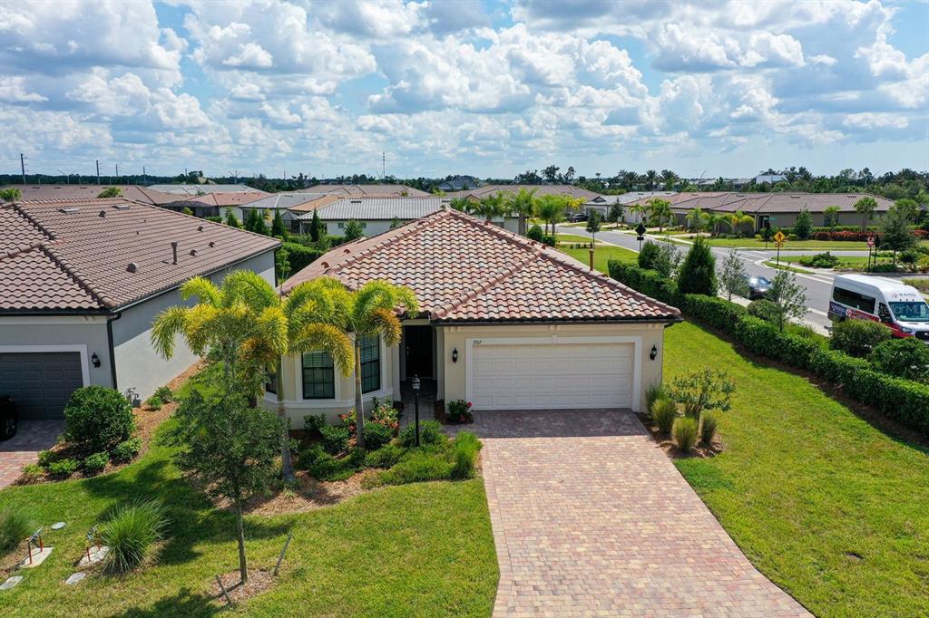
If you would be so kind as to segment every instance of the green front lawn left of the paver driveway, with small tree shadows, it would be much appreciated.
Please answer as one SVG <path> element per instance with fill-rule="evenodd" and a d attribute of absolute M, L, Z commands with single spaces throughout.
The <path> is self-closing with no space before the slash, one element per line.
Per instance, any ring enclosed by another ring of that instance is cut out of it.
<path fill-rule="evenodd" d="M 171 421 L 168 421 L 171 422 Z M 203 616 L 216 573 L 237 568 L 234 519 L 184 481 L 155 446 L 137 463 L 94 479 L 14 486 L 3 507 L 30 509 L 55 552 L 0 593 L 0 615 Z M 122 578 L 62 582 L 76 571 L 86 530 L 112 507 L 158 497 L 171 520 L 154 566 Z M 68 526 L 51 532 L 54 521 Z M 498 571 L 483 483 L 386 487 L 334 507 L 246 518 L 250 568 L 273 568 L 289 530 L 294 540 L 278 581 L 236 613 L 292 615 L 490 615 Z M 297 610 L 297 608 L 299 608 Z"/>

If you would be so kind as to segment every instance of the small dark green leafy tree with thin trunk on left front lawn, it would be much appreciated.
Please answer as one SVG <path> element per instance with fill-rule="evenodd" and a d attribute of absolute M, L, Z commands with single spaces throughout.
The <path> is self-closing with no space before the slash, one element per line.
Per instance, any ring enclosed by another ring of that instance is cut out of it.
<path fill-rule="evenodd" d="M 229 500 L 236 518 L 239 574 L 248 581 L 242 507 L 251 496 L 267 492 L 278 473 L 284 421 L 273 412 L 249 407 L 244 397 L 225 392 L 204 398 L 199 391 L 175 412 L 177 424 L 168 444 L 180 447 L 175 463 L 214 498 Z"/>

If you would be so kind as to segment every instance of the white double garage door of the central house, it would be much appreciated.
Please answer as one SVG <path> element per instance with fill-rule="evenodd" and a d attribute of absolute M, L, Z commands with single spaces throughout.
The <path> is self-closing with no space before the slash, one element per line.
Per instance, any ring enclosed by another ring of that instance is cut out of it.
<path fill-rule="evenodd" d="M 632 343 L 475 343 L 476 410 L 632 407 Z"/>

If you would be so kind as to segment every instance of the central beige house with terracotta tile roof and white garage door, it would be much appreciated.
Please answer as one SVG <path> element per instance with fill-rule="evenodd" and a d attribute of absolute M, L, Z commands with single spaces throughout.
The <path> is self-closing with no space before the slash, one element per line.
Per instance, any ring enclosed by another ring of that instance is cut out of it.
<path fill-rule="evenodd" d="M 419 315 L 403 316 L 399 347 L 361 341 L 365 406 L 401 398 L 418 376 L 438 400 L 476 410 L 644 409 L 661 380 L 664 328 L 674 307 L 589 270 L 568 256 L 479 219 L 441 209 L 340 245 L 285 281 L 317 277 L 350 289 L 375 279 L 410 288 Z M 335 420 L 353 406 L 354 381 L 326 353 L 283 359 L 289 418 Z M 268 393 L 268 406 L 276 395 Z"/>

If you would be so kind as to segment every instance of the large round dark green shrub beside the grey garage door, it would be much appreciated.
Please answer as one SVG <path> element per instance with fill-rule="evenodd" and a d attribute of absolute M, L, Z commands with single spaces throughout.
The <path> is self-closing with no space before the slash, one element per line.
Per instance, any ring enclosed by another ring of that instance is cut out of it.
<path fill-rule="evenodd" d="M 136 429 L 132 406 L 118 391 L 85 386 L 64 408 L 64 437 L 81 453 L 109 451 Z"/>

